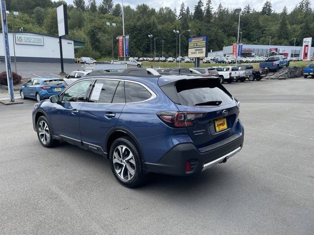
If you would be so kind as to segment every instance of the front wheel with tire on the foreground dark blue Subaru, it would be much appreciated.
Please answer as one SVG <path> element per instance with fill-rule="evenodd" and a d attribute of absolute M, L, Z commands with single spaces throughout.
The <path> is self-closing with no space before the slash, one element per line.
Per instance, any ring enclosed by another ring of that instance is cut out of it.
<path fill-rule="evenodd" d="M 36 132 L 39 142 L 46 148 L 56 146 L 59 141 L 53 139 L 51 126 L 45 116 L 40 116 L 36 123 Z"/>

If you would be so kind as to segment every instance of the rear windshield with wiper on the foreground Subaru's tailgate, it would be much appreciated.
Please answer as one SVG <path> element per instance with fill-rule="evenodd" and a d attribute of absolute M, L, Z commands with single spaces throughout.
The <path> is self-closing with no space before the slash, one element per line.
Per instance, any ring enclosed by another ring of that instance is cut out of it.
<path fill-rule="evenodd" d="M 185 106 L 197 107 L 232 103 L 233 98 L 216 84 L 216 81 L 210 79 L 179 81 L 176 84 L 179 102 Z"/>

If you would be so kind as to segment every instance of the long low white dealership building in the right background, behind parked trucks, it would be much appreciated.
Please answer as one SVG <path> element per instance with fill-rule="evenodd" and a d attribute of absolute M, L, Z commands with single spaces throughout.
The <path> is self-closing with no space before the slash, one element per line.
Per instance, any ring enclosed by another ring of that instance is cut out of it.
<path fill-rule="evenodd" d="M 233 46 L 223 47 L 222 51 L 209 52 L 208 56 L 227 56 L 232 55 Z M 277 46 L 277 45 L 250 45 L 243 44 L 242 57 L 251 56 L 268 56 L 269 55 L 284 55 L 286 57 L 302 57 L 302 47 L 293 46 Z M 314 55 L 314 47 L 311 47 L 311 55 Z"/>

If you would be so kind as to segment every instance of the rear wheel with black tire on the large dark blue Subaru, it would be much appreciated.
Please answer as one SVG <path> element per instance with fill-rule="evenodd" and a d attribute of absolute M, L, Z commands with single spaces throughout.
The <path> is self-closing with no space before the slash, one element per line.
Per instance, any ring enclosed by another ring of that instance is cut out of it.
<path fill-rule="evenodd" d="M 140 151 L 130 137 L 113 141 L 109 161 L 114 176 L 123 186 L 134 188 L 144 182 L 145 173 Z"/>

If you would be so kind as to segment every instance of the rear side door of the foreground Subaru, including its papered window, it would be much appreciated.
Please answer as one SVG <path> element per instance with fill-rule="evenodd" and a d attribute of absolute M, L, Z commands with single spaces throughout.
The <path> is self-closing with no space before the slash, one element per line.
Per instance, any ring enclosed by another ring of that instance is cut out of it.
<path fill-rule="evenodd" d="M 106 133 L 114 127 L 125 106 L 124 81 L 97 79 L 80 110 L 81 140 L 87 148 L 102 152 Z"/>

